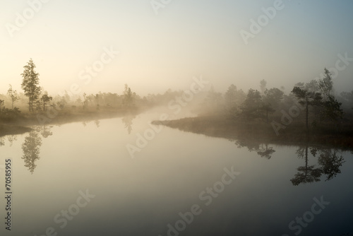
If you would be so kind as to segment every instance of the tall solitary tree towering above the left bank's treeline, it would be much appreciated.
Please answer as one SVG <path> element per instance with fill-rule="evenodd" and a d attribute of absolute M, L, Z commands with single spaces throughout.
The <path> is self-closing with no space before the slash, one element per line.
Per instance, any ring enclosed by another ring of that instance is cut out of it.
<path fill-rule="evenodd" d="M 30 59 L 24 68 L 25 70 L 21 73 L 21 76 L 23 77 L 21 87 L 29 99 L 29 110 L 30 112 L 33 112 L 33 103 L 38 99 L 41 90 L 39 85 L 40 79 L 38 78 L 40 74 L 35 72 L 35 64 L 32 59 Z"/>

